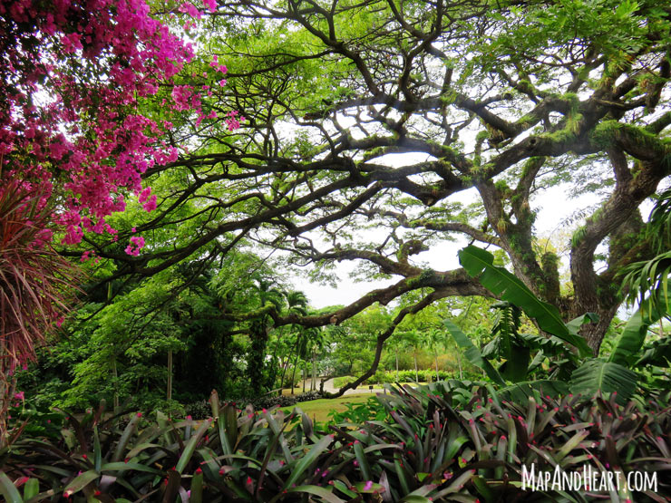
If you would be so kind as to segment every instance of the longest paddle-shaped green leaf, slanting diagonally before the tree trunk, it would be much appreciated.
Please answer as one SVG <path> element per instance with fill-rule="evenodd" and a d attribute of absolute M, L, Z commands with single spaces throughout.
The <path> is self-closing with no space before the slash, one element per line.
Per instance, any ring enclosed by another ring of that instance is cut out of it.
<path fill-rule="evenodd" d="M 518 277 L 503 267 L 494 266 L 494 256 L 491 253 L 478 247 L 465 247 L 459 252 L 459 262 L 469 275 L 477 277 L 481 285 L 492 294 L 517 305 L 527 315 L 535 318 L 542 330 L 573 344 L 584 356 L 591 354 L 585 339 L 574 334 L 563 322 L 559 309 L 541 301 Z"/>

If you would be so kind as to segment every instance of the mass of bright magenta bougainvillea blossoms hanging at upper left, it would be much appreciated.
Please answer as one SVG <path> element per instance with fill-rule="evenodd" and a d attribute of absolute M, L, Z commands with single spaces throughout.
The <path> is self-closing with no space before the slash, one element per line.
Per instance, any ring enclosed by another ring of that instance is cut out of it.
<path fill-rule="evenodd" d="M 215 0 L 204 5 L 217 8 Z M 201 14 L 190 3 L 180 11 Z M 190 44 L 153 19 L 145 0 L 3 0 L 0 46 L 0 181 L 24 180 L 44 205 L 57 197 L 63 209 L 54 223 L 66 244 L 85 232 L 115 234 L 105 218 L 126 207 L 124 194 L 156 208 L 142 174 L 179 152 L 162 140 L 170 121 L 139 114 L 138 100 L 174 81 L 193 57 Z M 175 85 L 170 111 L 215 119 L 199 92 Z M 226 120 L 229 130 L 239 127 L 235 119 Z M 131 238 L 127 252 L 143 245 Z"/>

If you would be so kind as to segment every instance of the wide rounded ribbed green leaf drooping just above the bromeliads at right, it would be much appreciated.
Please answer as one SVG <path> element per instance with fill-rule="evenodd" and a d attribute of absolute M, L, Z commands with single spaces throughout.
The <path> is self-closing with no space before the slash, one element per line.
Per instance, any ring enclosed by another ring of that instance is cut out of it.
<path fill-rule="evenodd" d="M 571 374 L 570 389 L 574 393 L 593 395 L 596 392 L 618 392 L 618 403 L 625 403 L 636 391 L 637 374 L 619 363 L 592 359 Z"/>

